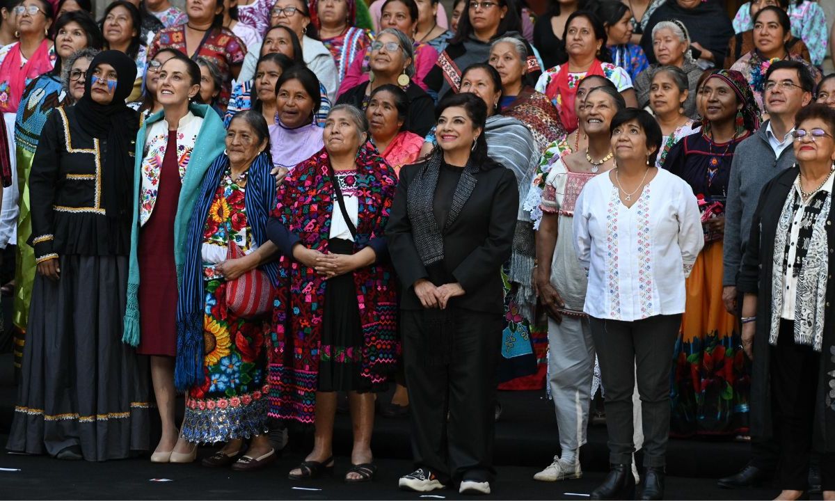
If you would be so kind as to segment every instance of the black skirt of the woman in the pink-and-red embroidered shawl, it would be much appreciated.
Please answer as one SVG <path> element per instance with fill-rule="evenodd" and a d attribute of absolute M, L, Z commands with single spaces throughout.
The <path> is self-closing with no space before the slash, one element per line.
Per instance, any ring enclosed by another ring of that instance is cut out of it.
<path fill-rule="evenodd" d="M 353 254 L 352 241 L 331 238 L 328 251 Z M 362 373 L 362 336 L 357 285 L 353 273 L 328 279 L 322 312 L 318 390 L 320 392 L 385 392 L 386 382 L 372 384 Z"/>

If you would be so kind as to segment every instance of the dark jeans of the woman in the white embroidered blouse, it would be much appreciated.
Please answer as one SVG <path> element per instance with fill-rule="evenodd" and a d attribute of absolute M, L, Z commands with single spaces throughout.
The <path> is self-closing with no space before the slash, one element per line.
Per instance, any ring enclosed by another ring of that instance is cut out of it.
<path fill-rule="evenodd" d="M 670 435 L 670 372 L 681 314 L 637 321 L 590 318 L 606 391 L 609 461 L 630 464 L 635 444 L 632 393 L 637 366 L 644 428 L 644 466 L 664 468 Z"/>

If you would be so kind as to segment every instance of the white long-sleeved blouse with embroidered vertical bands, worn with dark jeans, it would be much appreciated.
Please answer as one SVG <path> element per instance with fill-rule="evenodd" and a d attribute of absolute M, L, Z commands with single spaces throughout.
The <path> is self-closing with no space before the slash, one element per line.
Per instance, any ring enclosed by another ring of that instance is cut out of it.
<path fill-rule="evenodd" d="M 627 208 L 610 176 L 595 176 L 574 205 L 574 249 L 589 271 L 583 311 L 620 321 L 683 313 L 704 240 L 696 196 L 680 177 L 658 170 Z"/>

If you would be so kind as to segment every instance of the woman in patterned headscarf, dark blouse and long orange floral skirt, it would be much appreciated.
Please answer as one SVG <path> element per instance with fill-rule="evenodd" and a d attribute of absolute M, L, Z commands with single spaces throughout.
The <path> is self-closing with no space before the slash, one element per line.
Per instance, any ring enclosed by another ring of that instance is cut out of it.
<path fill-rule="evenodd" d="M 705 241 L 687 279 L 681 337 L 673 354 L 671 433 L 732 436 L 748 428 L 749 382 L 745 368 L 735 361 L 740 336 L 736 316 L 726 311 L 721 297 L 725 203 L 736 146 L 759 129 L 760 119 L 751 88 L 739 72 L 714 70 L 702 83 L 701 94 L 706 111 L 701 131 L 681 139 L 664 162 L 665 170 L 685 180 L 696 194 Z M 706 357 L 712 363 L 702 362 Z M 714 392 L 715 384 L 725 388 L 723 393 L 732 392 L 731 398 Z"/>

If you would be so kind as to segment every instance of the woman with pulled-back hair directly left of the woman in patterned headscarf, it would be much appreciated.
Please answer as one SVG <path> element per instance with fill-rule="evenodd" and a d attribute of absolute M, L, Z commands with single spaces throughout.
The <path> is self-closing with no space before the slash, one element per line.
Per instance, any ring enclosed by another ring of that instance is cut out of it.
<path fill-rule="evenodd" d="M 655 69 L 650 84 L 650 108 L 661 128 L 661 149 L 655 167 L 663 167 L 672 147 L 700 127 L 684 114 L 684 104 L 690 98 L 687 86 L 687 73 L 681 68 L 662 66 Z"/>

